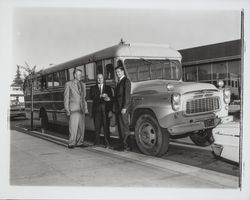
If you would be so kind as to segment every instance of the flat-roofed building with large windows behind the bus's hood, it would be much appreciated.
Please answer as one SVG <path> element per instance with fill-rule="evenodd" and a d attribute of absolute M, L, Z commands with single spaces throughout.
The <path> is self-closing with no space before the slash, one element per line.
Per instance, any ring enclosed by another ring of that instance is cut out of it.
<path fill-rule="evenodd" d="M 241 40 L 179 50 L 183 80 L 212 83 L 223 80 L 231 89 L 232 99 L 240 98 Z"/>

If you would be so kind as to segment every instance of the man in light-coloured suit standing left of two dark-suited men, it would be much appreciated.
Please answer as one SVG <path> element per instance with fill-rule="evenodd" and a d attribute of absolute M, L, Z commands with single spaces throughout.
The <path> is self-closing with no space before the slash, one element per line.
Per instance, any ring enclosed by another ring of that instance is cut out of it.
<path fill-rule="evenodd" d="M 82 71 L 75 69 L 74 79 L 65 84 L 64 109 L 69 116 L 68 148 L 84 146 L 85 113 L 88 112 L 86 86 L 81 81 Z"/>

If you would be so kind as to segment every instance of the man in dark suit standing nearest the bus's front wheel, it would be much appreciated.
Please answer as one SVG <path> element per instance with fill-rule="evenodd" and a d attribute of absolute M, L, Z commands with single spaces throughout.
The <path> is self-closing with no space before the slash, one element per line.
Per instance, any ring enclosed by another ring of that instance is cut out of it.
<path fill-rule="evenodd" d="M 120 138 L 119 150 L 129 150 L 127 139 L 130 136 L 129 107 L 131 103 L 131 82 L 125 76 L 121 62 L 118 62 L 115 72 L 119 81 L 115 88 L 115 113 Z"/>

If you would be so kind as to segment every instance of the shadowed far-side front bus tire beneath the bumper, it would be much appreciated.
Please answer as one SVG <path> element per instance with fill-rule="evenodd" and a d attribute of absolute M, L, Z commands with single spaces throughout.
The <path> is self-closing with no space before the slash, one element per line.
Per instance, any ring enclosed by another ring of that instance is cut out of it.
<path fill-rule="evenodd" d="M 191 133 L 189 138 L 192 142 L 198 146 L 206 147 L 214 142 L 212 129 L 200 130 L 195 133 Z"/>

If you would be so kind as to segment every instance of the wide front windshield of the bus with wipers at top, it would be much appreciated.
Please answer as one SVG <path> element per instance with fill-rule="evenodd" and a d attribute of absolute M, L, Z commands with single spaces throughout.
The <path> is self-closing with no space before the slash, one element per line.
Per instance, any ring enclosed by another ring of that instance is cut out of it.
<path fill-rule="evenodd" d="M 132 82 L 181 79 L 181 64 L 177 60 L 126 59 L 124 64 Z"/>

